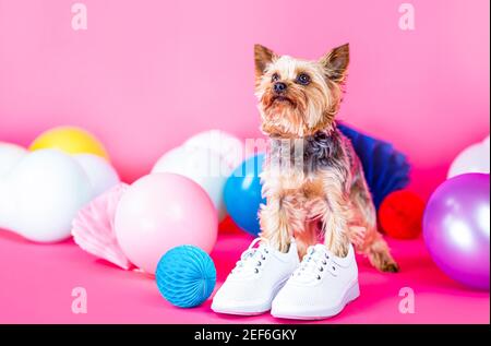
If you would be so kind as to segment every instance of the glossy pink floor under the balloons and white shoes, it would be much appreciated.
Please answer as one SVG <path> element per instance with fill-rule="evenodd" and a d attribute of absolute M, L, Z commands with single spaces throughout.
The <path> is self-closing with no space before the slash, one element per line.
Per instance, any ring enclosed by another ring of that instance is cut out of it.
<path fill-rule="evenodd" d="M 212 256 L 218 285 L 251 238 L 221 234 Z M 489 293 L 470 290 L 433 264 L 421 239 L 388 239 L 402 272 L 381 274 L 359 258 L 361 296 L 337 317 L 314 323 L 489 323 Z M 36 244 L 0 230 L 0 323 L 284 323 L 270 314 L 228 317 L 202 307 L 179 309 L 160 297 L 154 279 L 125 272 L 82 251 L 73 241 Z M 218 286 L 217 285 L 217 286 Z M 72 289 L 87 294 L 75 314 Z M 415 293 L 415 313 L 403 314 L 399 290 Z M 303 322 L 304 323 L 304 322 Z"/>

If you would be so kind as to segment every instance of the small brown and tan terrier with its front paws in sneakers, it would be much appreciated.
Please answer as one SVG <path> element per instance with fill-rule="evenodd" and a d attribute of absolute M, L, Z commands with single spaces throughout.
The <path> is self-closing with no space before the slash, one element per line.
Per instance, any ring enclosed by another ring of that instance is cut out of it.
<path fill-rule="evenodd" d="M 254 50 L 261 129 L 271 138 L 261 176 L 267 201 L 260 211 L 261 236 L 284 252 L 295 237 L 300 256 L 319 238 L 339 256 L 352 242 L 376 269 L 397 272 L 378 231 L 361 164 L 336 129 L 348 45 L 319 61 L 277 56 L 260 45 Z"/>

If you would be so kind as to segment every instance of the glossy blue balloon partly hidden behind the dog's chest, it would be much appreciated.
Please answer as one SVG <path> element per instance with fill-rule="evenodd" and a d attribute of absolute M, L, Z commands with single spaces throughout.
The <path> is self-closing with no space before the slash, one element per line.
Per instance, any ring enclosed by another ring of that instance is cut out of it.
<path fill-rule="evenodd" d="M 227 179 L 224 188 L 224 201 L 227 213 L 244 231 L 258 236 L 261 231 L 259 208 L 266 203 L 261 195 L 259 175 L 263 170 L 264 154 L 246 159 Z"/>

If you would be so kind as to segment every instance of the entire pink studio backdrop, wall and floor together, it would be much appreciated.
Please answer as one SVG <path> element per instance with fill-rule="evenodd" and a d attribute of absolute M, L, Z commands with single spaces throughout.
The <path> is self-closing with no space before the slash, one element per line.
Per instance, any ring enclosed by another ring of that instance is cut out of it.
<path fill-rule="evenodd" d="M 258 136 L 254 43 L 313 59 L 349 41 L 340 118 L 408 153 L 412 188 L 424 196 L 458 152 L 489 133 L 489 0 L 412 0 L 414 32 L 398 27 L 403 0 L 85 0 L 85 32 L 71 28 L 73 2 L 0 0 L 0 141 L 28 145 L 51 127 L 81 126 L 132 181 L 197 131 Z M 250 240 L 220 236 L 219 283 Z M 390 244 L 402 273 L 360 259 L 360 299 L 323 322 L 489 323 L 489 293 L 446 277 L 421 239 Z M 0 231 L 0 322 L 276 321 L 217 315 L 209 301 L 176 309 L 152 278 L 71 240 L 40 246 Z M 70 310 L 76 286 L 87 289 L 86 315 Z M 416 314 L 397 310 L 405 286 Z"/>

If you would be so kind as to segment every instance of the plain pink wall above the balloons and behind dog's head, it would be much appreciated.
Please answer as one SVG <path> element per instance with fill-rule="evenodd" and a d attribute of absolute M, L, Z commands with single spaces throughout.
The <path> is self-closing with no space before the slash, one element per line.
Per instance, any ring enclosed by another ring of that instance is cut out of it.
<path fill-rule="evenodd" d="M 351 45 L 339 118 L 392 141 L 428 194 L 465 146 L 489 132 L 488 0 L 402 2 L 0 0 L 0 140 L 24 145 L 58 124 L 107 145 L 125 180 L 167 150 L 219 128 L 260 135 L 252 46 L 318 58 Z"/>

